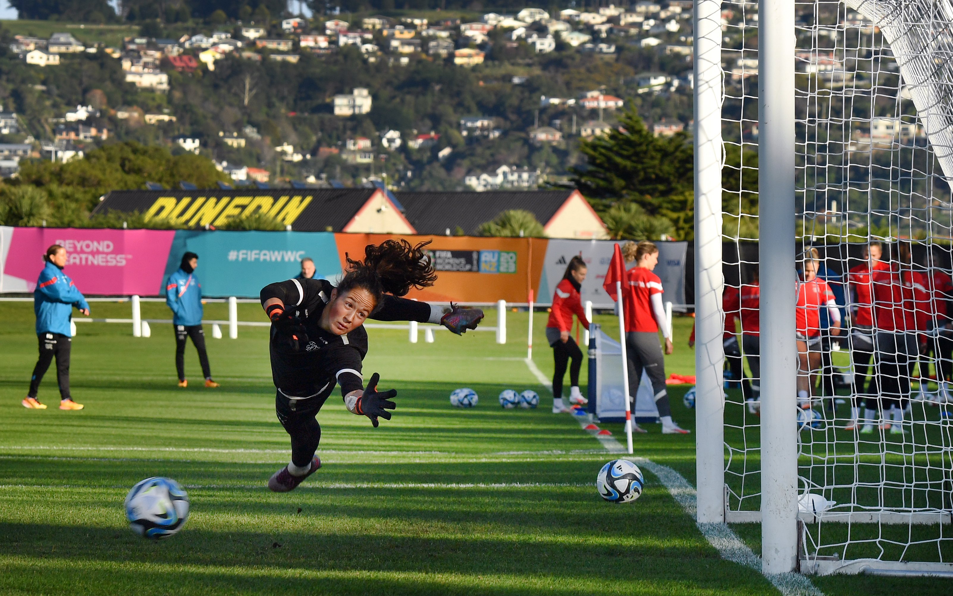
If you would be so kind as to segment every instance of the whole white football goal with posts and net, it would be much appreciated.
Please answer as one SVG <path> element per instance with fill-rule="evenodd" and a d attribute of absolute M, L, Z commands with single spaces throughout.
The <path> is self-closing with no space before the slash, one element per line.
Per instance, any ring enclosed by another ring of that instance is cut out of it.
<path fill-rule="evenodd" d="M 694 51 L 698 521 L 760 523 L 765 573 L 953 576 L 951 359 L 932 327 L 934 276 L 953 274 L 953 0 L 696 0 Z M 801 409 L 803 256 L 817 250 L 852 334 L 847 274 L 870 243 L 928 286 L 914 310 L 929 330 L 897 364 L 909 393 L 888 414 L 873 380 L 900 348 L 872 330 L 868 372 L 822 314 Z M 739 335 L 726 356 L 722 297 L 751 288 L 759 351 Z M 727 399 L 725 366 L 744 377 Z M 857 388 L 867 376 L 874 394 Z M 876 432 L 858 411 L 880 417 Z"/>

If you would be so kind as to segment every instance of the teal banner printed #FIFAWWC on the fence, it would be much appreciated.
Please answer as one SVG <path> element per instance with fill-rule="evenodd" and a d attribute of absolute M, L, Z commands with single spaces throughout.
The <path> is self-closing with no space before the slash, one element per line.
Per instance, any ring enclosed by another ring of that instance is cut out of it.
<path fill-rule="evenodd" d="M 304 257 L 314 260 L 315 278 L 335 280 L 342 273 L 331 232 L 178 230 L 158 294 L 164 294 L 165 279 L 179 268 L 186 252 L 198 255 L 195 277 L 202 295 L 210 297 L 257 298 L 269 283 L 298 275 Z"/>

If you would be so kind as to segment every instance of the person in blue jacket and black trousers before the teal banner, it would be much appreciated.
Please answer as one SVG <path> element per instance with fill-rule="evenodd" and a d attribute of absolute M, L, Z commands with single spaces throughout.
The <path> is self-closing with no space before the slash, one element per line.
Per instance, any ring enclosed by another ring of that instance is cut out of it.
<path fill-rule="evenodd" d="M 195 278 L 198 267 L 198 255 L 186 253 L 178 271 L 169 276 L 166 282 L 166 304 L 172 309 L 172 329 L 175 331 L 175 372 L 178 373 L 179 387 L 188 387 L 185 378 L 185 344 L 192 338 L 198 351 L 198 361 L 202 365 L 206 387 L 217 387 L 212 380 L 209 368 L 209 356 L 205 352 L 205 332 L 202 331 L 202 285 Z"/>

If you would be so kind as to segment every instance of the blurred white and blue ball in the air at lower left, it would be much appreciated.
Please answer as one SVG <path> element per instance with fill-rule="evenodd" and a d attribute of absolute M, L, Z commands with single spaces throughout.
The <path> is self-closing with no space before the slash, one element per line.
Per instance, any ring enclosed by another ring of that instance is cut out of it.
<path fill-rule="evenodd" d="M 169 538 L 189 517 L 189 495 L 179 483 L 158 476 L 133 486 L 125 506 L 132 531 L 153 540 Z"/>

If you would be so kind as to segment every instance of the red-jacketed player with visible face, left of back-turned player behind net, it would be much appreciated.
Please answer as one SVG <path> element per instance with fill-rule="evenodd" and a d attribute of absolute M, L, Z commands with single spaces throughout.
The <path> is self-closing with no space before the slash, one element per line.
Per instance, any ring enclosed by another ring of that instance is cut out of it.
<path fill-rule="evenodd" d="M 867 412 L 877 411 L 877 375 L 870 375 L 870 384 L 865 386 L 870 360 L 874 357 L 873 285 L 871 276 L 878 271 L 889 271 L 890 266 L 881 260 L 883 247 L 880 242 L 870 242 L 863 248 L 863 262 L 847 273 L 851 293 L 850 363 L 854 370 L 851 394 L 854 402 L 850 408 L 850 422 L 845 430 L 854 430 L 861 415 L 861 403 L 865 401 Z M 866 415 L 865 415 L 866 418 Z"/>

